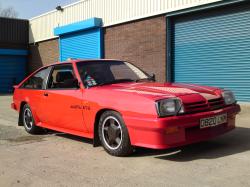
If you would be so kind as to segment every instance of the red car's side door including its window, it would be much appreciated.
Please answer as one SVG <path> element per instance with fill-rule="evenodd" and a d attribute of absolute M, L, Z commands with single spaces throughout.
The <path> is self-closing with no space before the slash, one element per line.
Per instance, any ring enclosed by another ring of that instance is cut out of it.
<path fill-rule="evenodd" d="M 72 64 L 55 65 L 43 95 L 45 125 L 56 129 L 86 132 L 82 114 L 82 89 L 74 83 Z"/>

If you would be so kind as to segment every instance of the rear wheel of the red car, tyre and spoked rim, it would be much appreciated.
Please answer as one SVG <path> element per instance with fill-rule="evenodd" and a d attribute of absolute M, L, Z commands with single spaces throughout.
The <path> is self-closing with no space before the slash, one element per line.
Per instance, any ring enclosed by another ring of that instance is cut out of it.
<path fill-rule="evenodd" d="M 35 125 L 35 120 L 31 108 L 28 104 L 24 105 L 21 112 L 22 112 L 23 126 L 29 134 L 41 134 L 44 132 L 44 130 L 41 127 Z"/>

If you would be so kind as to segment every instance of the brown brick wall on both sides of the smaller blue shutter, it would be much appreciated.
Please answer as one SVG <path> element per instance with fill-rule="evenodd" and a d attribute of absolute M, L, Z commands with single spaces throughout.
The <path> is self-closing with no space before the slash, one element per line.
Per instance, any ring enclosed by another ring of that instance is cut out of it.
<path fill-rule="evenodd" d="M 105 58 L 127 60 L 160 82 L 166 80 L 166 21 L 164 16 L 105 28 Z M 58 39 L 30 46 L 28 71 L 59 59 Z"/>

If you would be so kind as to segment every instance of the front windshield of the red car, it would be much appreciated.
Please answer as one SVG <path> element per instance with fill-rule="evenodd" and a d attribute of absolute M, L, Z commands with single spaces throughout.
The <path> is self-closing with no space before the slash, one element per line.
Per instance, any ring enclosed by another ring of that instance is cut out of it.
<path fill-rule="evenodd" d="M 85 87 L 151 80 L 145 72 L 123 61 L 78 62 L 77 68 Z"/>

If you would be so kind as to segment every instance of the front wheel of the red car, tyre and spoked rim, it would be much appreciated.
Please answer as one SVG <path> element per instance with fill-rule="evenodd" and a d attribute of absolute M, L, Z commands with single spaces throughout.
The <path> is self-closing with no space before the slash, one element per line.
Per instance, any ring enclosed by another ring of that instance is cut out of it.
<path fill-rule="evenodd" d="M 133 152 L 127 127 L 118 112 L 106 111 L 101 115 L 98 135 L 110 155 L 128 156 Z"/>

